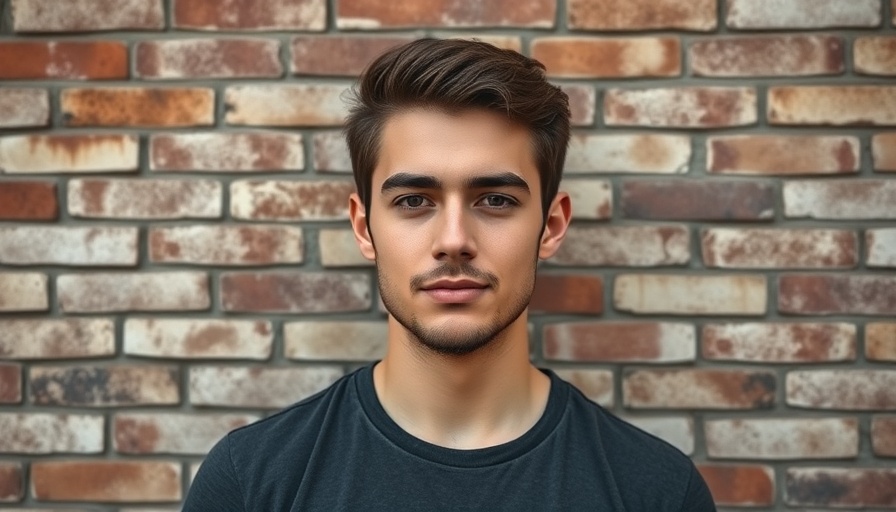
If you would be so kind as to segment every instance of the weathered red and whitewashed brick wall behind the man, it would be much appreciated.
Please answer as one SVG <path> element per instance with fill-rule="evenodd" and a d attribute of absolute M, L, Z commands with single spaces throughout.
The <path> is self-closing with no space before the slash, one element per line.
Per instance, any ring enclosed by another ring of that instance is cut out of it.
<path fill-rule="evenodd" d="M 723 508 L 896 510 L 896 0 L 0 0 L 0 502 L 177 510 L 227 430 L 383 352 L 341 95 L 542 60 L 575 220 L 533 358 Z"/>

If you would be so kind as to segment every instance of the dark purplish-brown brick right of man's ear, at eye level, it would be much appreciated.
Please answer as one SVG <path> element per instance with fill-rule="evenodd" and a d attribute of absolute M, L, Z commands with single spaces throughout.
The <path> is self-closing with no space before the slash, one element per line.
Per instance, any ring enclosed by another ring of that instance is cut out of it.
<path fill-rule="evenodd" d="M 767 182 L 624 181 L 621 210 L 630 219 L 770 221 L 775 189 Z"/>

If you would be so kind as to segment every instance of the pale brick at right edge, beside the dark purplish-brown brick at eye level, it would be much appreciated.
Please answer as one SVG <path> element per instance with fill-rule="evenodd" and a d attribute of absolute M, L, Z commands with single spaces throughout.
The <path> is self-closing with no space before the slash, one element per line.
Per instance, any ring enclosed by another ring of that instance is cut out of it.
<path fill-rule="evenodd" d="M 896 219 L 896 180 L 792 180 L 784 182 L 783 195 L 791 218 Z"/>

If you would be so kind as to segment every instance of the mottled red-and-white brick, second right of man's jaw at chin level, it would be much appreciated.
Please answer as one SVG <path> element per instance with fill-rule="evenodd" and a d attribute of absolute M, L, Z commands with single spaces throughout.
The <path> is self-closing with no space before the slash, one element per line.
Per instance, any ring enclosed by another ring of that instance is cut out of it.
<path fill-rule="evenodd" d="M 855 361 L 856 326 L 847 323 L 729 323 L 703 326 L 702 355 L 716 361 Z"/>

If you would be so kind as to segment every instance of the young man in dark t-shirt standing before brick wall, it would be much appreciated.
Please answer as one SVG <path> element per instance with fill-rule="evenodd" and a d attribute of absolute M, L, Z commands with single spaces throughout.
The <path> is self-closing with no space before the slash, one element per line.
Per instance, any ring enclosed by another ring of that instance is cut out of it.
<path fill-rule="evenodd" d="M 566 96 L 522 55 L 424 39 L 361 78 L 351 223 L 389 311 L 385 358 L 230 433 L 185 511 L 715 510 L 691 461 L 529 361 Z"/>

